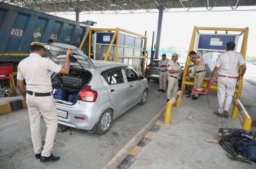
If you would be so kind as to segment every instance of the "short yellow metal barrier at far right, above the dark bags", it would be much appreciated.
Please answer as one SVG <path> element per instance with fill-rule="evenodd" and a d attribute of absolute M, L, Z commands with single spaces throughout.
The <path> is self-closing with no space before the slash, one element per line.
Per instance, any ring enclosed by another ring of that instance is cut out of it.
<path fill-rule="evenodd" d="M 233 110 L 232 113 L 232 118 L 236 119 L 237 117 L 237 111 L 239 111 L 243 117 L 243 127 L 242 129 L 251 130 L 251 123 L 253 123 L 253 120 L 251 119 L 251 117 L 249 116 L 249 114 L 247 113 L 247 111 L 245 110 L 245 107 L 243 107 L 241 101 L 239 101 L 239 99 L 236 99 L 236 101 L 234 102 L 234 109 L 236 109 L 236 111 Z"/>

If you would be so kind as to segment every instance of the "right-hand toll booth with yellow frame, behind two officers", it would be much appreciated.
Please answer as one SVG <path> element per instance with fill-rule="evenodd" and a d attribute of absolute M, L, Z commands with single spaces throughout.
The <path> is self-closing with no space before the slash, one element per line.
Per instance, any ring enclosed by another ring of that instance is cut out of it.
<path fill-rule="evenodd" d="M 219 54 L 226 52 L 226 43 L 234 42 L 236 44 L 235 52 L 240 52 L 243 58 L 246 57 L 247 40 L 248 40 L 249 27 L 245 28 L 222 28 L 222 27 L 194 27 L 191 44 L 189 46 L 188 56 L 185 64 L 185 70 L 182 77 L 181 91 L 182 95 L 185 85 L 193 87 L 194 85 L 194 71 L 189 70 L 188 65 L 191 64 L 189 52 L 194 50 L 197 54 L 203 56 L 205 61 L 206 76 L 203 80 L 202 87 L 205 88 L 207 80 L 211 78 L 212 71 L 216 65 L 216 60 Z M 239 68 L 241 73 L 241 68 Z M 218 76 L 216 76 L 217 78 Z M 218 79 L 214 79 L 216 84 L 212 84 L 210 90 L 217 91 Z M 236 99 L 240 99 L 243 87 L 243 78 L 238 80 L 236 85 L 235 94 Z M 177 107 L 180 106 L 181 97 L 177 101 Z M 237 111 L 237 110 L 236 110 Z"/>

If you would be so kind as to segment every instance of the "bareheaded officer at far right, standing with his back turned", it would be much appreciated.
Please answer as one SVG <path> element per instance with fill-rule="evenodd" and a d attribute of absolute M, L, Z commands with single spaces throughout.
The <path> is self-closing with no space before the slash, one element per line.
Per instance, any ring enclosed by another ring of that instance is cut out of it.
<path fill-rule="evenodd" d="M 216 66 L 212 72 L 214 78 L 218 72 L 218 111 L 214 114 L 228 118 L 228 110 L 234 96 L 236 80 L 243 78 L 246 71 L 245 60 L 240 53 L 234 52 L 236 44 L 228 42 L 226 44 L 226 52 L 220 54 L 216 61 Z M 238 65 L 241 65 L 241 74 L 238 74 Z"/>

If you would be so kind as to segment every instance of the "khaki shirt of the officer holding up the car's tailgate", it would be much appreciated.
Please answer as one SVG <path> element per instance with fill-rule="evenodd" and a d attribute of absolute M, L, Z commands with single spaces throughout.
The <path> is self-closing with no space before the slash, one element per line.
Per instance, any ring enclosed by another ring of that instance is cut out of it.
<path fill-rule="evenodd" d="M 58 73 L 61 65 L 55 64 L 49 58 L 42 58 L 32 53 L 18 65 L 18 80 L 26 80 L 26 89 L 35 93 L 53 91 L 51 72 Z"/>

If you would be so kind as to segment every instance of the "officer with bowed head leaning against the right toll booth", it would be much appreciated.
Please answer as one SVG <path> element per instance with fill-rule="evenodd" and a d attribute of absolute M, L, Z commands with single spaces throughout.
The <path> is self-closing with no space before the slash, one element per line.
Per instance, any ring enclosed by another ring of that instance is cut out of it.
<path fill-rule="evenodd" d="M 205 75 L 206 75 L 203 56 L 201 56 L 200 54 L 197 55 L 195 51 L 189 52 L 189 56 L 190 56 L 191 62 L 193 62 L 193 65 L 191 66 L 194 66 L 194 70 L 195 70 L 193 89 L 200 89 L 203 83 L 203 78 L 205 78 Z M 192 95 L 192 99 L 193 100 L 198 99 L 198 95 L 199 95 L 198 93 L 195 93 L 195 95 Z"/>

